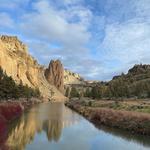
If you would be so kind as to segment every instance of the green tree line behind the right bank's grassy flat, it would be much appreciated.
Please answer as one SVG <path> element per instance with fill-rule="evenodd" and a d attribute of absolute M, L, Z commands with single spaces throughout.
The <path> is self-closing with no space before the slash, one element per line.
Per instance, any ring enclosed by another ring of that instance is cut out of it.
<path fill-rule="evenodd" d="M 79 91 L 72 87 L 70 94 L 69 89 L 66 90 L 68 97 L 90 97 L 93 99 L 100 98 L 150 98 L 150 80 L 145 81 L 131 81 L 125 78 L 118 78 L 99 84 L 92 88 L 87 87 L 84 91 Z"/>

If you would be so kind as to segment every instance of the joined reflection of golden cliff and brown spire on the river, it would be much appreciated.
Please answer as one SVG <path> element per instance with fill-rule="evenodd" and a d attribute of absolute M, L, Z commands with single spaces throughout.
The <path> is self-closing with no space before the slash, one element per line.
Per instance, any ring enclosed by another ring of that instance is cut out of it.
<path fill-rule="evenodd" d="M 62 129 L 80 120 L 77 116 L 68 118 L 68 111 L 62 103 L 47 103 L 32 108 L 10 126 L 6 145 L 11 150 L 24 150 L 34 140 L 36 133 L 42 132 L 46 133 L 49 141 L 58 142 Z"/>

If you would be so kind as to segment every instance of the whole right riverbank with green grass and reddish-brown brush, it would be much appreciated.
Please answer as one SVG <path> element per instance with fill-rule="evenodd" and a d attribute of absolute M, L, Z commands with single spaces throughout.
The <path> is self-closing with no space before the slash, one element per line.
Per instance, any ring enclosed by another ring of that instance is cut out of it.
<path fill-rule="evenodd" d="M 95 103 L 99 103 L 99 105 L 94 105 Z M 150 113 L 139 112 L 142 106 L 139 107 L 139 109 L 128 110 L 127 108 L 131 107 L 130 104 L 136 104 L 137 101 L 128 101 L 128 103 L 129 104 L 127 104 L 126 102 L 126 105 L 128 105 L 128 107 L 124 108 L 119 107 L 120 105 L 123 105 L 123 103 L 121 102 L 97 102 L 94 100 L 72 99 L 66 102 L 65 105 L 80 113 L 98 127 L 105 125 L 109 127 L 128 130 L 132 133 L 150 135 Z M 146 105 L 146 107 L 142 107 L 142 109 L 145 110 L 145 108 L 147 108 L 147 105 L 149 106 L 149 102 L 146 103 L 142 101 L 142 103 Z M 149 108 L 147 109 L 149 110 Z"/>

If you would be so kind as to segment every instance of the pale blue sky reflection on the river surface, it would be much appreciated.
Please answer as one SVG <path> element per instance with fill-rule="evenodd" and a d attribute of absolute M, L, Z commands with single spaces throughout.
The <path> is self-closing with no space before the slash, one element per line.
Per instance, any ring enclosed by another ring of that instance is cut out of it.
<path fill-rule="evenodd" d="M 44 132 L 37 134 L 27 150 L 149 150 L 138 143 L 127 141 L 96 129 L 85 119 L 62 129 L 58 142 L 48 142 Z"/>

